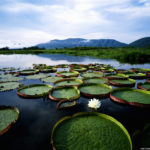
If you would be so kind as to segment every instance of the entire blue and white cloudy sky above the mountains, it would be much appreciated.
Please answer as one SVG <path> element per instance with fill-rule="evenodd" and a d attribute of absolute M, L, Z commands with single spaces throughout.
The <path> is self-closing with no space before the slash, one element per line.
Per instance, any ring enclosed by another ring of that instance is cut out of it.
<path fill-rule="evenodd" d="M 150 36 L 150 0 L 0 0 L 0 47 Z"/>

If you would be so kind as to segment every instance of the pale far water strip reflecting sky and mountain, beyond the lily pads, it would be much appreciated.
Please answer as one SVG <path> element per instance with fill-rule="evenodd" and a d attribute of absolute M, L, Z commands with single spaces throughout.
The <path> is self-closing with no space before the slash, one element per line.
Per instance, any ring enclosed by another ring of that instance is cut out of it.
<path fill-rule="evenodd" d="M 89 64 L 89 63 L 101 63 L 110 64 L 114 67 L 121 69 L 129 69 L 131 67 L 145 67 L 150 68 L 150 64 L 140 64 L 140 65 L 130 65 L 130 64 L 120 64 L 118 61 L 113 59 L 97 59 L 88 56 L 70 56 L 64 54 L 39 54 L 39 55 L 0 55 L 0 68 L 3 67 L 20 67 L 28 68 L 32 67 L 32 64 L 47 64 L 47 65 L 57 65 L 57 64 Z"/>

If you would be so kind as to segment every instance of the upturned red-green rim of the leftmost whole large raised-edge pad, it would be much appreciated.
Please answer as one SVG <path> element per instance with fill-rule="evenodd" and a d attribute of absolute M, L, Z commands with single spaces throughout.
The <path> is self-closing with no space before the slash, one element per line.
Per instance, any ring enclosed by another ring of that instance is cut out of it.
<path fill-rule="evenodd" d="M 23 98 L 40 98 L 40 97 L 44 96 L 46 93 L 36 94 L 36 95 L 28 95 L 28 94 L 23 94 L 23 93 L 19 92 L 19 91 L 21 91 L 23 89 L 30 88 L 30 87 L 36 87 L 36 86 L 46 86 L 46 87 L 49 87 L 50 90 L 53 89 L 53 86 L 48 85 L 48 84 L 30 84 L 30 85 L 26 85 L 26 86 L 23 86 L 23 87 L 19 88 L 17 90 L 17 94 L 19 96 L 23 97 Z M 49 93 L 49 91 L 47 92 L 47 94 Z"/>

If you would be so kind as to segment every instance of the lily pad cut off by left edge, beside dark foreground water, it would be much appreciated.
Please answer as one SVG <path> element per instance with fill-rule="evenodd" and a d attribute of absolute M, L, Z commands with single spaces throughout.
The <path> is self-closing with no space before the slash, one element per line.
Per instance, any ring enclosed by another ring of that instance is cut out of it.
<path fill-rule="evenodd" d="M 0 135 L 7 132 L 18 117 L 19 110 L 16 107 L 0 106 Z"/>

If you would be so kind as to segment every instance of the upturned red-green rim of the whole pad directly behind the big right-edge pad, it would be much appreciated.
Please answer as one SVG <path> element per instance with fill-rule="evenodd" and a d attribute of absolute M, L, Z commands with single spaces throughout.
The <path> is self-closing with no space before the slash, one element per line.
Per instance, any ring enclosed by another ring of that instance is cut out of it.
<path fill-rule="evenodd" d="M 119 82 L 113 82 L 112 80 L 114 80 L 114 79 L 109 79 L 108 83 L 111 84 L 111 85 L 114 85 L 114 86 L 119 86 L 119 87 L 134 87 L 135 83 L 136 83 L 136 81 L 133 80 L 133 79 L 127 79 L 128 81 L 132 82 L 132 83 L 128 83 L 128 84 L 119 83 Z"/>

